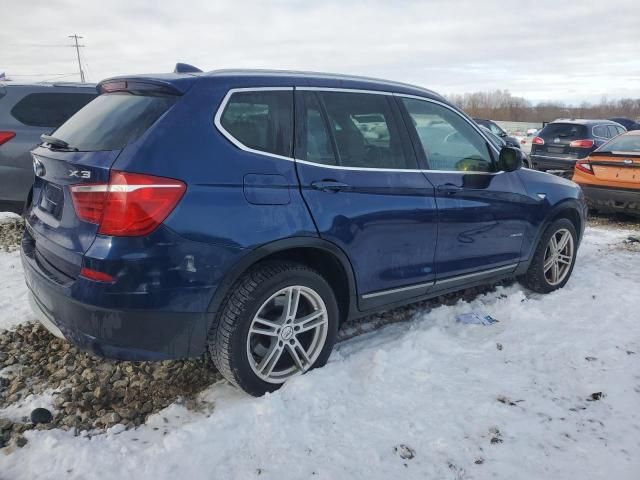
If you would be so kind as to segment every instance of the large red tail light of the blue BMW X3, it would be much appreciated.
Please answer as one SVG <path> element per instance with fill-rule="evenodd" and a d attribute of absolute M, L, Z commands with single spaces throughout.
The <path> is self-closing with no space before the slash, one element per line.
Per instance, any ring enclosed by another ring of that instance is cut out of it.
<path fill-rule="evenodd" d="M 148 235 L 178 204 L 186 185 L 172 178 L 112 171 L 109 183 L 73 185 L 78 217 L 116 237 Z"/>

